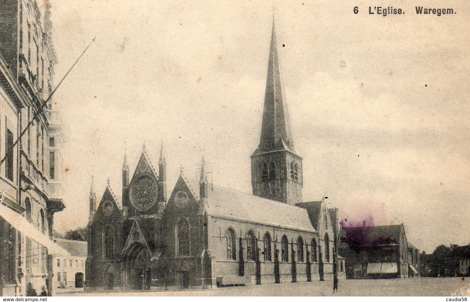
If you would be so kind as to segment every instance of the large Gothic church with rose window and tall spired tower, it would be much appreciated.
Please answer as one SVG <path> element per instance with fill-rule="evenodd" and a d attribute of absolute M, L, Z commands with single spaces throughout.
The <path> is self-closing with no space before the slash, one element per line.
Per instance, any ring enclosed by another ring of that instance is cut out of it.
<path fill-rule="evenodd" d="M 130 177 L 125 156 L 122 200 L 109 183 L 98 206 L 93 186 L 90 192 L 86 290 L 323 280 L 334 267 L 345 278 L 335 251 L 337 208 L 302 199 L 302 158 L 282 94 L 274 24 L 251 183 L 253 194 L 210 184 L 203 159 L 198 181 L 181 171 L 167 194 L 163 143 L 157 169 L 144 146 Z"/>

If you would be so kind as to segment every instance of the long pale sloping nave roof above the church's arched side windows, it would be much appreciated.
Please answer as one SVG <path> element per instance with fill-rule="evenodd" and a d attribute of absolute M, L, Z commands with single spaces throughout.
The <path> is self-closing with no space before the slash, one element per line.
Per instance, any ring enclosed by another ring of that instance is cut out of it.
<path fill-rule="evenodd" d="M 199 182 L 186 182 L 199 195 Z M 217 185 L 208 186 L 205 211 L 212 216 L 316 232 L 304 208 Z"/>

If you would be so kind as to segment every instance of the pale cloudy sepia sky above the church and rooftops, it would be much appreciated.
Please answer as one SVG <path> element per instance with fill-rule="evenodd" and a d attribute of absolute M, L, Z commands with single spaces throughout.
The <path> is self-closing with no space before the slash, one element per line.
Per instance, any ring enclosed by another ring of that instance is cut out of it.
<path fill-rule="evenodd" d="M 417 16 L 419 3 L 398 0 L 405 15 L 383 17 L 367 13 L 377 3 L 318 2 L 275 1 L 304 199 L 328 196 L 348 221 L 404 223 L 428 253 L 468 244 L 468 4 L 426 1 L 457 14 Z M 125 142 L 131 175 L 143 142 L 157 166 L 163 139 L 169 190 L 204 155 L 214 183 L 251 192 L 272 0 L 52 4 L 56 82 L 97 37 L 55 95 L 69 168 L 57 230 L 86 226 L 92 174 L 98 199 L 108 177 L 120 193 Z"/>

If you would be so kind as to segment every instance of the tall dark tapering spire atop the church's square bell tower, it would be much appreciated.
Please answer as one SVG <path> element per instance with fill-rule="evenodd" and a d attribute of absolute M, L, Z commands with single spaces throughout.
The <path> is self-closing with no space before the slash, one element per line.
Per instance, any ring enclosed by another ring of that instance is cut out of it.
<path fill-rule="evenodd" d="M 258 152 L 293 150 L 287 106 L 281 87 L 281 74 L 277 56 L 276 32 L 271 32 L 271 46 L 266 77 L 266 93 L 263 110 L 263 123 Z"/>

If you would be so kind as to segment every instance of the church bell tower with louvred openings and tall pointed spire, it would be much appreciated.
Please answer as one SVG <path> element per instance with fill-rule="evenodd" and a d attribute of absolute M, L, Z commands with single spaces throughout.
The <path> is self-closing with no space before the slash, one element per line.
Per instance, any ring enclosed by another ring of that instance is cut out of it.
<path fill-rule="evenodd" d="M 302 183 L 302 158 L 294 151 L 282 94 L 273 20 L 261 137 L 251 155 L 251 185 L 253 195 L 295 205 L 302 202 Z"/>

